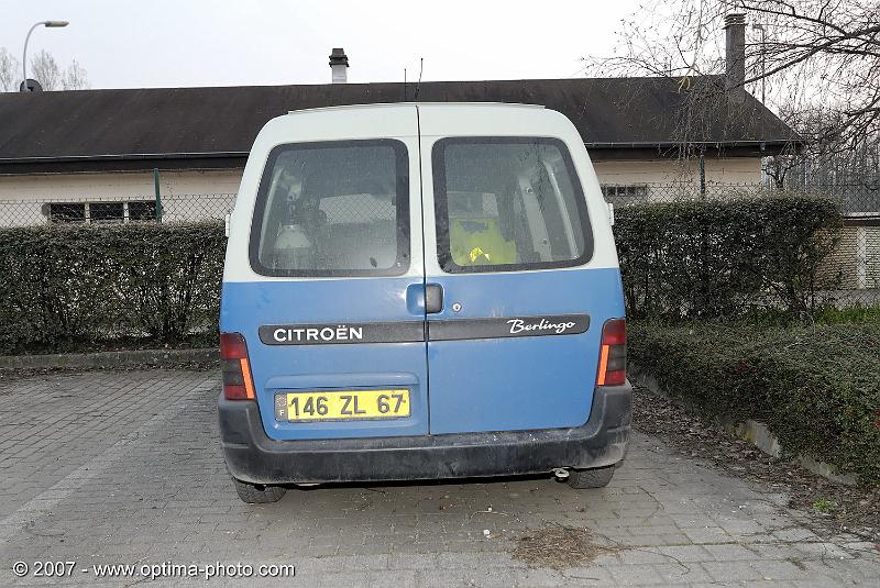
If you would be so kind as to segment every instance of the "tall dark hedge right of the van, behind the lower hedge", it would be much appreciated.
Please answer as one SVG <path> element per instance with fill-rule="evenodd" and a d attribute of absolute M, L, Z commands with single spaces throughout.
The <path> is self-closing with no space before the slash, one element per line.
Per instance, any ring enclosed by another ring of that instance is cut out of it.
<path fill-rule="evenodd" d="M 632 318 L 729 319 L 761 307 L 796 313 L 813 310 L 818 286 L 834 287 L 820 271 L 840 225 L 828 200 L 636 204 L 615 215 Z"/>

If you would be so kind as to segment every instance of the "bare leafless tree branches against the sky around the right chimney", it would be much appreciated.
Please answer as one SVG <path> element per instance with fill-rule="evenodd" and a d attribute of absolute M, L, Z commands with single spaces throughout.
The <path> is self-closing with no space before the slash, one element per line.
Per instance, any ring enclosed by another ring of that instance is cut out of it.
<path fill-rule="evenodd" d="M 624 21 L 612 56 L 585 60 L 601 75 L 654 75 L 691 87 L 724 71 L 724 16 L 752 25 L 745 85 L 809 145 L 858 148 L 880 132 L 880 2 L 877 0 L 673 0 Z M 713 88 L 712 85 L 704 85 Z M 717 85 L 715 86 L 717 88 Z M 704 92 L 705 93 L 705 92 Z M 757 93 L 757 92 L 756 92 Z"/>

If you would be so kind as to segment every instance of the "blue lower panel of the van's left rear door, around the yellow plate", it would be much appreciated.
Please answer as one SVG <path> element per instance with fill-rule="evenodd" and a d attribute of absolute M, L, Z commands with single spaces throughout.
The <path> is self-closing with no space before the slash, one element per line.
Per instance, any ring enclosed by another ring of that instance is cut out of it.
<path fill-rule="evenodd" d="M 307 440 L 427 434 L 424 342 L 265 345 L 257 333 L 264 324 L 424 320 L 422 292 L 424 284 L 417 277 L 224 282 L 220 331 L 244 335 L 266 435 Z M 393 387 L 409 388 L 410 417 L 310 423 L 275 420 L 276 392 Z"/>

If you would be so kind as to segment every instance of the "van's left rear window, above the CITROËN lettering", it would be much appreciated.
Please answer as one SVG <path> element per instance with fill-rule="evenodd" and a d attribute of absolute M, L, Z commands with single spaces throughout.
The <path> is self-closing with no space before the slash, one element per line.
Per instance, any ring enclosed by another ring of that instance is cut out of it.
<path fill-rule="evenodd" d="M 279 145 L 251 229 L 266 276 L 394 276 L 409 268 L 406 146 L 371 140 Z"/>

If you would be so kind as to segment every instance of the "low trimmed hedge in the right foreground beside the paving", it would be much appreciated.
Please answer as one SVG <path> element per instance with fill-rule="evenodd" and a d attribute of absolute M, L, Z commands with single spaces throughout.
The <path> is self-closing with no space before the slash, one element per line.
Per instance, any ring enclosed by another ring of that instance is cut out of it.
<path fill-rule="evenodd" d="M 880 484 L 880 324 L 635 323 L 627 339 L 630 360 L 671 393 Z"/>

